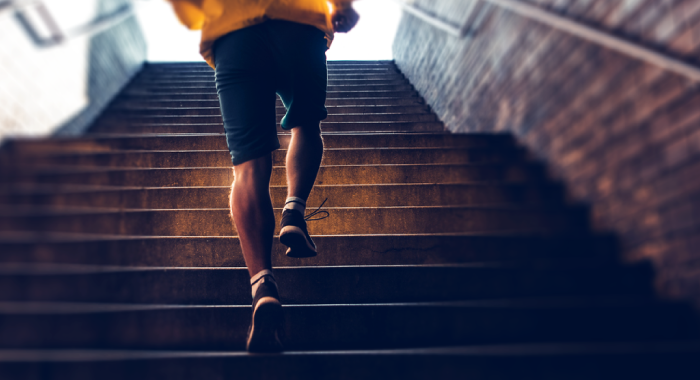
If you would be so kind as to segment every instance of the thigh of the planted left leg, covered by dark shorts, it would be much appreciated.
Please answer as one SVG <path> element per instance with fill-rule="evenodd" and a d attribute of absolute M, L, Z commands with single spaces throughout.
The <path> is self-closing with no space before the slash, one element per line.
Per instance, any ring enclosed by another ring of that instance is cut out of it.
<path fill-rule="evenodd" d="M 257 26 L 229 33 L 214 45 L 216 89 L 234 165 L 279 148 L 273 55 Z"/>

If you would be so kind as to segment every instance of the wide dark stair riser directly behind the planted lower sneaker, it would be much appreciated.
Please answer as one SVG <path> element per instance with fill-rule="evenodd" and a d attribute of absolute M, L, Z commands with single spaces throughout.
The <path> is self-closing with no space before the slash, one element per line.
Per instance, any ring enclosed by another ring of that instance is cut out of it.
<path fill-rule="evenodd" d="M 690 340 L 690 308 L 638 297 L 285 305 L 288 350 Z M 3 348 L 242 350 L 250 306 L 2 302 Z"/>

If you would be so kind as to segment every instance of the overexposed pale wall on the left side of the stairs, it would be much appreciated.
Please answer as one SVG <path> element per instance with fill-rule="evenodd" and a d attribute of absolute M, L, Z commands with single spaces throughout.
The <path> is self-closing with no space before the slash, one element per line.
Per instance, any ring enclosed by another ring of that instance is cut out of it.
<path fill-rule="evenodd" d="M 95 0 L 93 12 L 107 14 L 128 1 Z M 39 47 L 5 9 L 0 42 L 0 140 L 82 132 L 146 58 L 134 17 L 93 36 Z"/>

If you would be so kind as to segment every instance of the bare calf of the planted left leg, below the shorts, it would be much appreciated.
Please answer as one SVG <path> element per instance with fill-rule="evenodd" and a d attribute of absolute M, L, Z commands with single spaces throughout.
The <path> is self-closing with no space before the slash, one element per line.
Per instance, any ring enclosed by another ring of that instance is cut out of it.
<path fill-rule="evenodd" d="M 272 269 L 272 235 L 275 214 L 270 200 L 272 158 L 266 156 L 234 166 L 231 217 L 238 230 L 241 250 L 250 276 Z"/>

